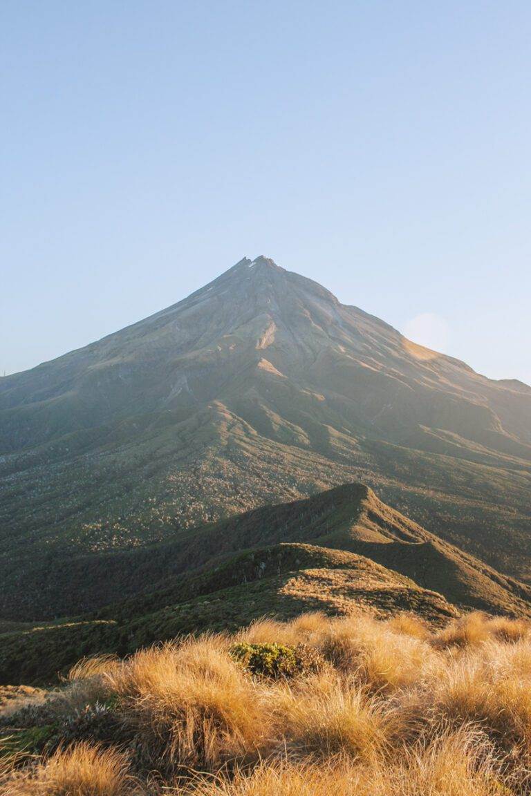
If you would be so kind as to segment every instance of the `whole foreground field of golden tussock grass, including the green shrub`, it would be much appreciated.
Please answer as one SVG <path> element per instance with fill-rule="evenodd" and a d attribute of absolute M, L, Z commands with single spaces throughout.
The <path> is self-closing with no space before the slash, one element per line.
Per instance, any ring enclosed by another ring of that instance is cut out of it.
<path fill-rule="evenodd" d="M 531 793 L 531 625 L 291 622 L 80 661 L 0 710 L 13 796 Z"/>

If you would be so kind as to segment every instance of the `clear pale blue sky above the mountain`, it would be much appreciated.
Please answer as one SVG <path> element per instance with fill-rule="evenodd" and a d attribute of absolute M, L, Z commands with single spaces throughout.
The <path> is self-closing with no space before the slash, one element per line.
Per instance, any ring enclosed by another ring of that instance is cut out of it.
<path fill-rule="evenodd" d="M 0 3 L 0 374 L 271 256 L 531 383 L 531 4 Z"/>

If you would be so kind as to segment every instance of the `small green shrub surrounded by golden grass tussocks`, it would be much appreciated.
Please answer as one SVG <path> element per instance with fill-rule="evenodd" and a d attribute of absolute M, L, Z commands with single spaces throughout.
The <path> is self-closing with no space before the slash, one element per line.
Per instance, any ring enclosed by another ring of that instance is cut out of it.
<path fill-rule="evenodd" d="M 323 659 L 316 650 L 304 644 L 249 644 L 240 642 L 229 649 L 232 657 L 249 673 L 259 677 L 295 677 L 317 671 Z"/>

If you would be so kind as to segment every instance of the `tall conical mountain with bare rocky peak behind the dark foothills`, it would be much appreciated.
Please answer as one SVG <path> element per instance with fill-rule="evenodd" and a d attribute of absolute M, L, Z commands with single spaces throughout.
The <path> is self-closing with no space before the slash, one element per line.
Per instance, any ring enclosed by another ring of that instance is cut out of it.
<path fill-rule="evenodd" d="M 353 481 L 531 582 L 531 388 L 243 259 L 0 379 L 3 616 L 19 618 L 40 564 L 180 544 L 205 522 Z"/>

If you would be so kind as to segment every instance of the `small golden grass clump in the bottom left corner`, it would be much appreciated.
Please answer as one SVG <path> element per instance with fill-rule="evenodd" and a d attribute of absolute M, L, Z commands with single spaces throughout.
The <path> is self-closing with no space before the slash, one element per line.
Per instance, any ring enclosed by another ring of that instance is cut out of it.
<path fill-rule="evenodd" d="M 14 775 L 12 796 L 132 796 L 140 794 L 127 757 L 115 749 L 77 743 L 35 768 Z"/>

